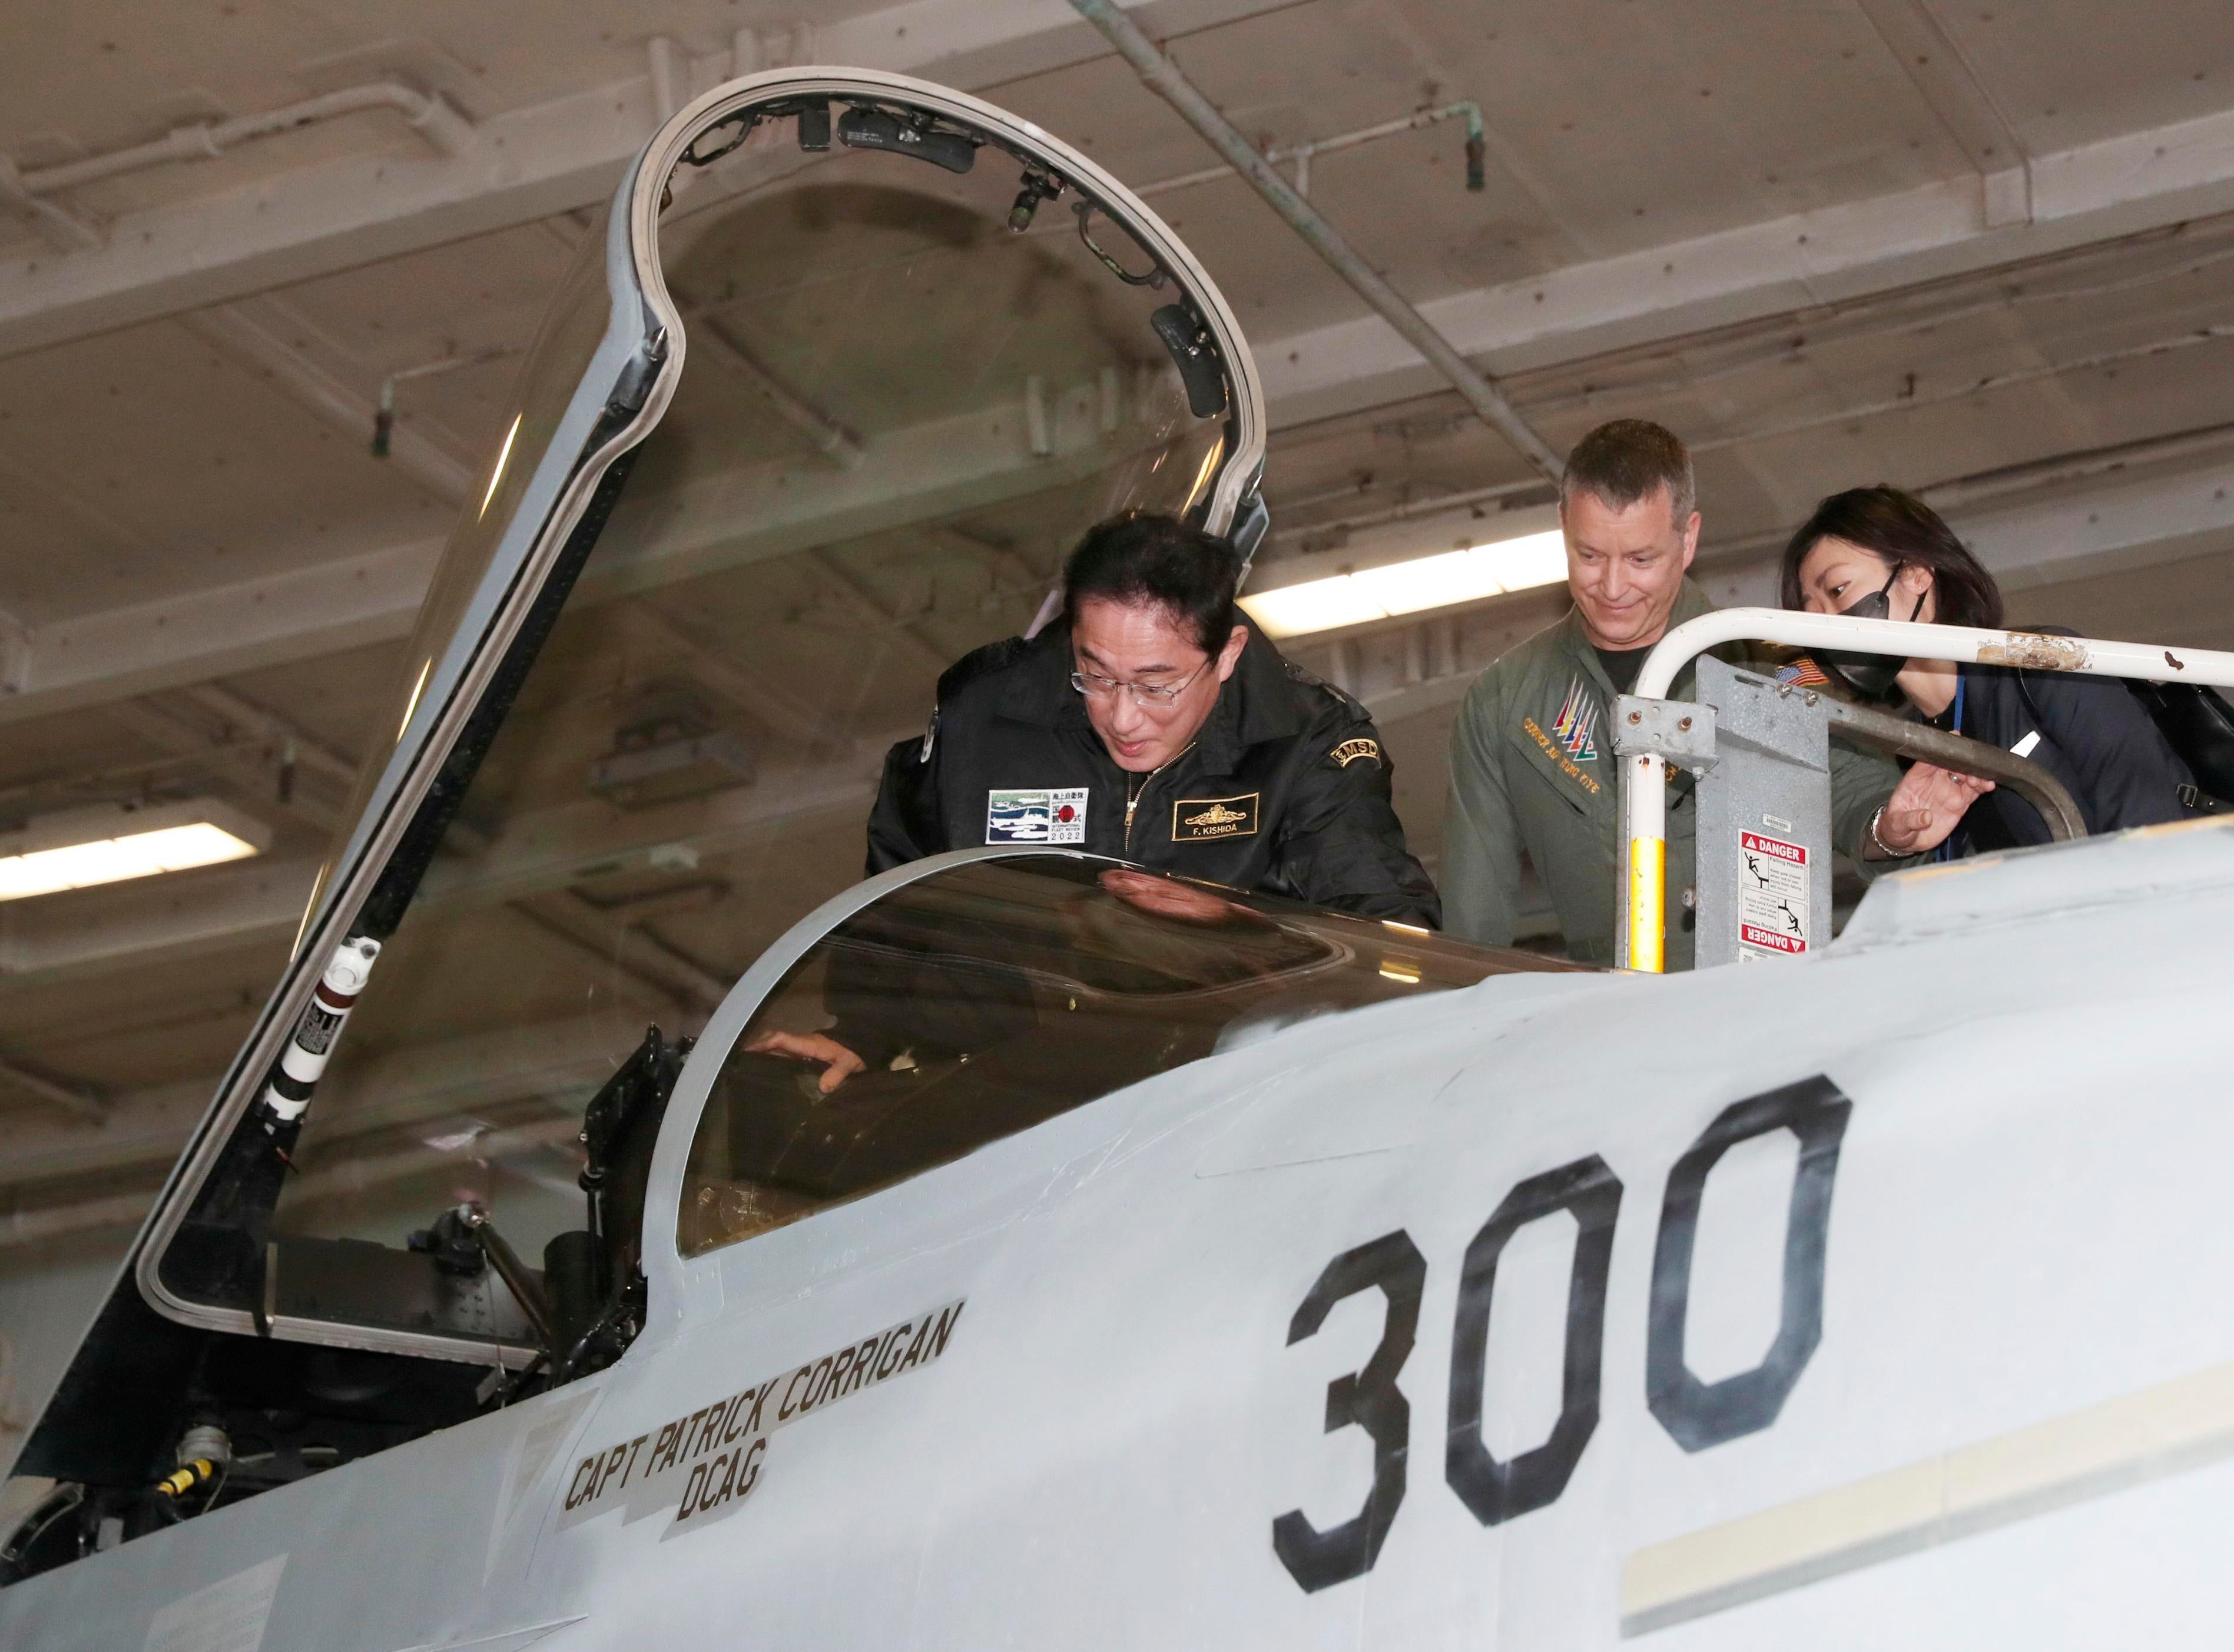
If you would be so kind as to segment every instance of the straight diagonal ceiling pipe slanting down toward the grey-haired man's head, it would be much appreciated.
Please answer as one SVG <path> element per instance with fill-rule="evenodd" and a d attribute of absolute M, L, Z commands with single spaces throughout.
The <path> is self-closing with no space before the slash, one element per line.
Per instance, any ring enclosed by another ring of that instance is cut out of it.
<path fill-rule="evenodd" d="M 1414 310 L 1396 288 L 1381 279 L 1365 259 L 1282 179 L 1271 163 L 1249 147 L 1249 141 L 1211 105 L 1209 98 L 1180 74 L 1139 31 L 1115 0 L 1070 0 L 1072 9 L 1090 22 L 1117 54 L 1133 65 L 1142 83 L 1164 103 L 1180 112 L 1202 138 L 1226 159 L 1235 172 L 1249 179 L 1251 188 L 1280 219 L 1300 234 L 1327 266 L 1343 277 L 1361 299 L 1365 299 L 1396 333 L 1419 350 L 1428 364 L 1450 380 L 1450 386 L 1466 397 L 1466 404 L 1481 415 L 1481 422 L 1503 435 L 1546 480 L 1557 482 L 1562 460 L 1541 435 L 1515 411 L 1503 391 L 1474 368 L 1450 339 L 1436 333 L 1428 319 Z"/>

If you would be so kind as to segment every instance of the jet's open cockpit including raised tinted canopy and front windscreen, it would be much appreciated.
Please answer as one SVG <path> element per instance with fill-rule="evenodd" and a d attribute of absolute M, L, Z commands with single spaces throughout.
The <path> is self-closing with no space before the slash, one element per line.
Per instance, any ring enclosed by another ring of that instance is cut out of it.
<path fill-rule="evenodd" d="M 853 889 L 941 670 L 1028 632 L 1117 511 L 1251 547 L 1262 451 L 1215 286 L 1037 127 L 813 69 L 675 116 L 579 225 L 393 748 L 18 1460 L 63 1502 L 0 1560 L 579 1380 L 643 1324 L 655 1248 L 746 1243 L 1296 1018 L 1544 967 L 1070 853 Z M 824 1087 L 768 1034 L 858 1067 Z M 701 1116 L 666 1118 L 706 1060 Z"/>

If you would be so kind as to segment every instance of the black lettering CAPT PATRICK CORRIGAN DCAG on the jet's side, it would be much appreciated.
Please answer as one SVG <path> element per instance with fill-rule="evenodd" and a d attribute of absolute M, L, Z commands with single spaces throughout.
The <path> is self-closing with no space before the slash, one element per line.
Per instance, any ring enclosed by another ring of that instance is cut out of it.
<path fill-rule="evenodd" d="M 947 1351 L 961 1317 L 963 1302 L 954 1299 L 751 1389 L 724 1393 L 630 1440 L 599 1447 L 574 1464 L 561 1525 L 581 1525 L 614 1509 L 626 1509 L 623 1525 L 666 1514 L 661 1538 L 672 1538 L 735 1514 L 760 1489 L 771 1433 L 809 1411 L 932 1364 Z"/>

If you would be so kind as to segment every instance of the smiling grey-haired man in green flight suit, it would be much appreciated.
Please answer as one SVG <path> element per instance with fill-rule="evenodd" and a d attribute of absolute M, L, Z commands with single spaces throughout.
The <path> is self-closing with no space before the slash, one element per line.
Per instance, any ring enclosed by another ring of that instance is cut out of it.
<path fill-rule="evenodd" d="M 1443 926 L 1488 947 L 1512 942 L 1521 848 L 1559 913 L 1571 958 L 1613 962 L 1613 868 L 1620 851 L 1606 719 L 1671 625 L 1713 607 L 1684 574 L 1698 551 L 1698 484 L 1673 431 L 1649 420 L 1600 424 L 1566 460 L 1559 527 L 1575 605 L 1490 665 L 1450 734 L 1443 826 Z M 1718 650 L 1722 652 L 1722 650 Z M 1743 654 L 1734 663 L 1745 663 Z M 1669 690 L 1689 699 L 1693 672 Z M 1865 875 L 1935 848 L 1975 784 L 1854 752 L 1832 757 L 1832 842 Z M 1693 960 L 1691 889 L 1698 810 L 1691 779 L 1669 786 L 1667 967 Z"/>

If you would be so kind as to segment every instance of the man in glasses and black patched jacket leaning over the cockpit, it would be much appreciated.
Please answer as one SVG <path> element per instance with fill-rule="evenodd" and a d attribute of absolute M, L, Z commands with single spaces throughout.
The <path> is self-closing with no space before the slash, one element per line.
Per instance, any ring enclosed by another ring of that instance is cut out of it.
<path fill-rule="evenodd" d="M 1072 844 L 1233 889 L 1441 926 L 1365 708 L 1235 607 L 1226 540 L 1119 516 L 1063 567 L 1063 614 L 938 679 L 885 759 L 869 873 L 974 844 Z"/>

